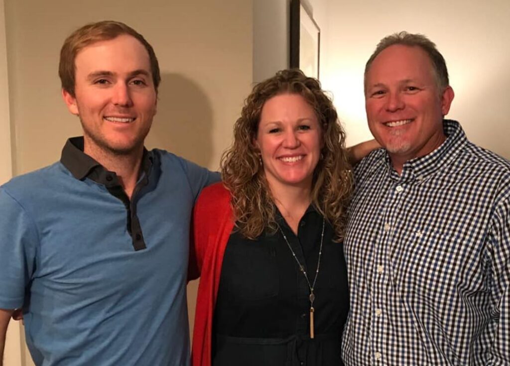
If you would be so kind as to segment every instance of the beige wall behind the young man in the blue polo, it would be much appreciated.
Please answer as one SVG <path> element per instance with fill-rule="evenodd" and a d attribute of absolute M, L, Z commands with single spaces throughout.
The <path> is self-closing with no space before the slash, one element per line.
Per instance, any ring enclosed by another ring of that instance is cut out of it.
<path fill-rule="evenodd" d="M 5 2 L 15 174 L 55 162 L 66 138 L 81 134 L 78 119 L 67 112 L 60 97 L 59 51 L 75 28 L 102 19 L 126 22 L 156 50 L 162 84 L 147 146 L 218 168 L 220 154 L 231 142 L 232 125 L 251 89 L 251 0 L 1 1 Z M 3 9 L 4 4 L 0 5 Z M 0 28 L 3 32 L 3 23 Z M 0 76 L 6 56 L 2 39 L 4 33 L 0 33 Z M 7 93 L 2 86 L 0 93 Z M 0 94 L 0 103 L 6 100 Z M 9 150 L 5 110 L 0 109 L 2 158 L 4 150 Z M 4 167 L 2 161 L 1 174 L 9 170 Z M 196 283 L 189 287 L 193 309 Z M 6 364 L 24 366 L 21 362 Z"/>

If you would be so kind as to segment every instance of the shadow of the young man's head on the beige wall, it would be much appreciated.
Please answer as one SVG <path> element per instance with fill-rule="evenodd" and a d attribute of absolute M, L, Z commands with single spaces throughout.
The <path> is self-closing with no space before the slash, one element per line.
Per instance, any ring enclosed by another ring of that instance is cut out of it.
<path fill-rule="evenodd" d="M 161 74 L 158 113 L 147 148 L 165 149 L 208 167 L 213 155 L 212 128 L 211 103 L 200 86 L 180 74 Z"/>

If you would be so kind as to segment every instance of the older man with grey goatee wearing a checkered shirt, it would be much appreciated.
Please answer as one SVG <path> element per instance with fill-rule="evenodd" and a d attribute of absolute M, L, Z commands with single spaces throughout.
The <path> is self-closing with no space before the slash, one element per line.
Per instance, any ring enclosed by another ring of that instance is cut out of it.
<path fill-rule="evenodd" d="M 444 119 L 453 96 L 422 35 L 386 37 L 367 62 L 385 149 L 354 171 L 346 365 L 510 364 L 510 162 Z"/>

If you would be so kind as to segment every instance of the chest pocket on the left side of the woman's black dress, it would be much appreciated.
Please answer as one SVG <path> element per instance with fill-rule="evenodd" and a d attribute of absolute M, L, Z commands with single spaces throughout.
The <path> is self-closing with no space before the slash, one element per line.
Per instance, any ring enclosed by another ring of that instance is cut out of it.
<path fill-rule="evenodd" d="M 279 274 L 276 255 L 270 246 L 228 245 L 223 259 L 221 281 L 233 303 L 263 301 L 278 295 Z"/>

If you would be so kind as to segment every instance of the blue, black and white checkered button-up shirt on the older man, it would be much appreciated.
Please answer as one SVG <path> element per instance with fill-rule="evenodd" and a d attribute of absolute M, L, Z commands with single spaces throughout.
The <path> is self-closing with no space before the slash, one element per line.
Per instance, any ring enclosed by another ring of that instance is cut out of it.
<path fill-rule="evenodd" d="M 510 364 L 510 162 L 444 130 L 400 176 L 382 149 L 355 169 L 346 365 Z"/>

